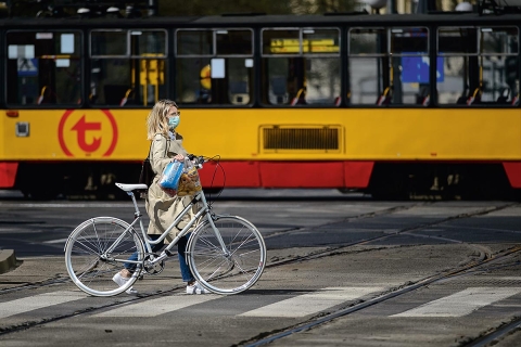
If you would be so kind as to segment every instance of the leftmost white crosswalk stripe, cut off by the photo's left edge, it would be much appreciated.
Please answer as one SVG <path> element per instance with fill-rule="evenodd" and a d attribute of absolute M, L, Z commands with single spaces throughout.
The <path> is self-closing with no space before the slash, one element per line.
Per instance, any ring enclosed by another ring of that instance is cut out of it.
<path fill-rule="evenodd" d="M 82 292 L 53 292 L 0 304 L 0 319 L 63 303 L 85 299 Z"/>

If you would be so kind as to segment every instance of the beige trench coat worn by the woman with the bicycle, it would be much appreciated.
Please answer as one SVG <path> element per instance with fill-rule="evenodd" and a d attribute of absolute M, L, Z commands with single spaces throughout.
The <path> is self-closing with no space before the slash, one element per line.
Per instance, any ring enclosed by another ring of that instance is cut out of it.
<path fill-rule="evenodd" d="M 182 146 L 182 137 L 177 134 L 176 140 L 165 138 L 161 133 L 156 133 L 152 140 L 150 147 L 150 164 L 155 172 L 154 180 L 149 187 L 144 206 L 150 217 L 149 234 L 162 234 L 174 222 L 176 216 L 191 202 L 192 196 L 169 196 L 166 194 L 157 181 L 163 172 L 165 166 L 171 162 L 171 158 L 177 154 L 187 156 L 187 151 Z M 171 242 L 177 233 L 187 226 L 193 214 L 199 210 L 199 206 L 194 206 L 192 210 L 187 214 L 183 219 L 174 228 L 165 243 Z"/>

